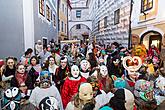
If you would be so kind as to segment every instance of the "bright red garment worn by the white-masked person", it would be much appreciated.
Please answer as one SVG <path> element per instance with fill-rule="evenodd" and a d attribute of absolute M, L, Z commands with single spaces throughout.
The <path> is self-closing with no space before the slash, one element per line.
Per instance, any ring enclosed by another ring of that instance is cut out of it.
<path fill-rule="evenodd" d="M 61 92 L 64 109 L 71 101 L 71 98 L 78 92 L 78 87 L 82 82 L 86 82 L 84 77 L 81 77 L 80 80 L 71 80 L 68 77 L 66 78 Z"/>

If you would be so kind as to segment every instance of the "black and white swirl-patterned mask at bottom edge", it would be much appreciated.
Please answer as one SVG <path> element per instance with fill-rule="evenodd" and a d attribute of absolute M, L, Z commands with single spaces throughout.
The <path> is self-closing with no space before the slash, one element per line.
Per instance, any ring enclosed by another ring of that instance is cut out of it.
<path fill-rule="evenodd" d="M 54 97 L 45 97 L 39 104 L 40 110 L 58 110 L 58 101 Z"/>

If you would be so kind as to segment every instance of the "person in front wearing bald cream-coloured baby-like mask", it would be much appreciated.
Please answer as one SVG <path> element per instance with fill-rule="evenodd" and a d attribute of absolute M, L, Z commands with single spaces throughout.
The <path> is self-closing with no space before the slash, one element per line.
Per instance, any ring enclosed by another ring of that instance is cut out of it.
<path fill-rule="evenodd" d="M 86 104 L 94 104 L 94 110 L 98 110 L 99 107 L 93 98 L 93 89 L 90 83 L 82 83 L 79 86 L 78 93 L 71 100 L 65 110 L 83 110 Z"/>

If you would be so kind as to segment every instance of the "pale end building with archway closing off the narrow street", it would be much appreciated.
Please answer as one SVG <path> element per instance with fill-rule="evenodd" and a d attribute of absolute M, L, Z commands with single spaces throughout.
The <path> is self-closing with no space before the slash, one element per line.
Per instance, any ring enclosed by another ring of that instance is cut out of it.
<path fill-rule="evenodd" d="M 71 19 L 69 20 L 70 39 L 86 41 L 91 34 L 92 22 L 86 0 L 71 2 Z"/>

